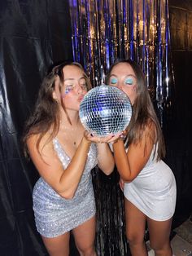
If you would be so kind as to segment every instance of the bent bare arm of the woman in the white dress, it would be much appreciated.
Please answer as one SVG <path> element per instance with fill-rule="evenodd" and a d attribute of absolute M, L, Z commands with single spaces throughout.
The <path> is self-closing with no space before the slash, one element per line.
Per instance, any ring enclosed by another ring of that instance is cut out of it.
<path fill-rule="evenodd" d="M 128 152 L 125 152 L 124 142 L 119 139 L 113 143 L 114 157 L 117 170 L 124 182 L 131 182 L 137 174 L 146 166 L 151 156 L 155 143 L 155 125 L 150 125 L 144 130 L 142 139 L 137 144 L 129 145 Z"/>

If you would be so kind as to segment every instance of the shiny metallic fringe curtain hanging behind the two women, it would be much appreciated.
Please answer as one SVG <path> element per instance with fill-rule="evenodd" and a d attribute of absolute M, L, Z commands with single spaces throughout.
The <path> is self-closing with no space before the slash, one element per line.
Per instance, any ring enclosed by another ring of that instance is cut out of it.
<path fill-rule="evenodd" d="M 69 0 L 73 59 L 84 65 L 93 86 L 103 84 L 119 58 L 142 66 L 163 126 L 172 105 L 168 0 Z M 98 207 L 98 255 L 129 255 L 124 237 L 124 207 L 116 172 L 94 173 Z"/>

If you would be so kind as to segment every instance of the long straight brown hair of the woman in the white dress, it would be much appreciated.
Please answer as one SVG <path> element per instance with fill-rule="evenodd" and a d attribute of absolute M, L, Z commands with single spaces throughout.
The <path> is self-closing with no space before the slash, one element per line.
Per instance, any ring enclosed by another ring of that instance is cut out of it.
<path fill-rule="evenodd" d="M 137 97 L 133 104 L 133 114 L 128 126 L 129 133 L 125 147 L 127 148 L 130 143 L 138 143 L 142 138 L 142 133 L 146 125 L 153 121 L 156 130 L 155 148 L 158 143 L 157 160 L 160 160 L 165 156 L 164 136 L 159 125 L 159 119 L 155 113 L 154 105 L 151 101 L 151 96 L 147 90 L 146 79 L 142 68 L 133 60 L 117 60 L 108 70 L 106 83 L 108 84 L 109 82 L 112 69 L 120 63 L 129 64 L 137 77 Z"/>

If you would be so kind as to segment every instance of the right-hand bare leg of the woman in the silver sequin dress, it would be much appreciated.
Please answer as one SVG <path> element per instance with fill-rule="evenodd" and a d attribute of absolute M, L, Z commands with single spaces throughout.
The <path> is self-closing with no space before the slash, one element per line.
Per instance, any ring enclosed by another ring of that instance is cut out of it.
<path fill-rule="evenodd" d="M 96 256 L 94 249 L 96 221 L 95 216 L 90 218 L 85 223 L 72 230 L 76 241 L 76 248 L 81 256 Z"/>

